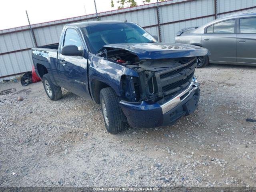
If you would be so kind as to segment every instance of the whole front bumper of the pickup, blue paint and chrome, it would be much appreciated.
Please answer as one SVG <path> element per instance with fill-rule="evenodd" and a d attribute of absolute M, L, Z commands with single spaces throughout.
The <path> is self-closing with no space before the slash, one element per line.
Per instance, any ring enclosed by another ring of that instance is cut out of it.
<path fill-rule="evenodd" d="M 153 128 L 172 125 L 182 116 L 192 113 L 197 107 L 199 96 L 199 84 L 194 77 L 186 90 L 164 104 L 120 101 L 120 106 L 130 126 Z"/>

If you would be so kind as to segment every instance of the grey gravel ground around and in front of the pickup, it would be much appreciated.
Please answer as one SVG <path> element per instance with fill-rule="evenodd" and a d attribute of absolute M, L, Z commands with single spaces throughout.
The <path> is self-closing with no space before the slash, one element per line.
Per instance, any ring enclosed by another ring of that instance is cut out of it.
<path fill-rule="evenodd" d="M 0 84 L 0 186 L 256 186 L 256 68 L 196 69 L 198 109 L 174 126 L 106 132 L 100 106 L 42 83 Z M 18 101 L 18 97 L 22 101 Z"/>

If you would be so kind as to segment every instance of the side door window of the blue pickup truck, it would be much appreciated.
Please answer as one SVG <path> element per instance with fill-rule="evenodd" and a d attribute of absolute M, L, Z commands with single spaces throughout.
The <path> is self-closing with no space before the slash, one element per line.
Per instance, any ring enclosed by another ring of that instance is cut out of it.
<path fill-rule="evenodd" d="M 66 30 L 63 46 L 65 45 L 75 45 L 78 47 L 78 50 L 83 50 L 82 41 L 75 29 L 68 28 Z"/>

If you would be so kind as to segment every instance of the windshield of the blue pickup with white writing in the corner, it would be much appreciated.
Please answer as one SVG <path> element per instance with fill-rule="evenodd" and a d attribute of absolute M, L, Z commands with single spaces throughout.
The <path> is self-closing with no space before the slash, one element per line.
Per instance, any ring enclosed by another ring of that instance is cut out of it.
<path fill-rule="evenodd" d="M 156 42 L 148 32 L 133 23 L 100 24 L 82 29 L 92 53 L 106 44 Z"/>

